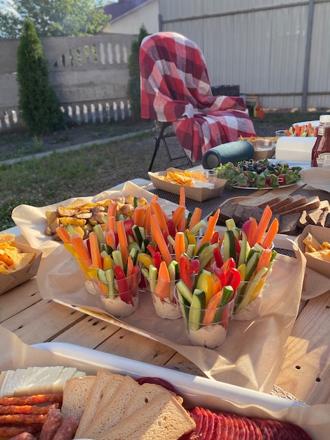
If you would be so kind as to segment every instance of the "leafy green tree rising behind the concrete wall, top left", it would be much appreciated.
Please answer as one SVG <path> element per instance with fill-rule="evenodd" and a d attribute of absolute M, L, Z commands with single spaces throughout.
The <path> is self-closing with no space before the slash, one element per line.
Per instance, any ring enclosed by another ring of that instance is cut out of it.
<path fill-rule="evenodd" d="M 0 37 L 18 38 L 25 18 L 39 38 L 94 35 L 110 20 L 105 0 L 4 0 L 0 10 Z"/>

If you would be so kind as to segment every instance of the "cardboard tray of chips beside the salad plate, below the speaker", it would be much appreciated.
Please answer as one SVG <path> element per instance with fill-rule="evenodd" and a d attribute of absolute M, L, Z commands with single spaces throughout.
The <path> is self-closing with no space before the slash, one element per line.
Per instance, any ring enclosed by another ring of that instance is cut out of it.
<path fill-rule="evenodd" d="M 148 174 L 155 188 L 179 195 L 181 185 L 159 179 L 159 176 L 166 176 L 168 172 L 183 172 L 183 170 L 177 168 L 168 168 L 165 171 L 156 173 L 148 172 Z M 216 183 L 212 190 L 210 188 L 192 188 L 191 186 L 185 186 L 185 197 L 192 200 L 197 200 L 197 202 L 203 202 L 204 200 L 218 197 L 223 192 L 226 182 L 227 181 L 225 179 L 216 179 Z"/>

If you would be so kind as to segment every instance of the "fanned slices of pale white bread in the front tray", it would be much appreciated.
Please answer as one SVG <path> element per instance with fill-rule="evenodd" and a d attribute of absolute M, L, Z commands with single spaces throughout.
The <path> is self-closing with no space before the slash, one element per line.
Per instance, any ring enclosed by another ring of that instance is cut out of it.
<path fill-rule="evenodd" d="M 67 380 L 62 415 L 77 415 L 75 439 L 178 439 L 195 423 L 183 399 L 157 384 L 100 370 Z"/>

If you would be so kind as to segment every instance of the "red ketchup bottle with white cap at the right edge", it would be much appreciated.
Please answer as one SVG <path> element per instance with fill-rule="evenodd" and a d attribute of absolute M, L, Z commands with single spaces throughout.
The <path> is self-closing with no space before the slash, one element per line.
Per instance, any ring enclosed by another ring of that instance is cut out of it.
<path fill-rule="evenodd" d="M 312 149 L 312 167 L 330 165 L 330 115 L 319 117 L 317 139 Z"/>

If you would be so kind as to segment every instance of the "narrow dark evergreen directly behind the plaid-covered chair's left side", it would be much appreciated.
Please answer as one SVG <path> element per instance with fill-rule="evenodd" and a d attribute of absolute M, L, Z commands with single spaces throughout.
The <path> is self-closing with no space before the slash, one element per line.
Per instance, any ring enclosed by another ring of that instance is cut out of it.
<path fill-rule="evenodd" d="M 133 41 L 131 45 L 131 55 L 128 59 L 128 98 L 131 102 L 131 112 L 134 119 L 139 119 L 141 114 L 140 98 L 140 65 L 139 52 L 142 40 L 149 35 L 144 25 L 140 27 L 138 41 Z"/>

